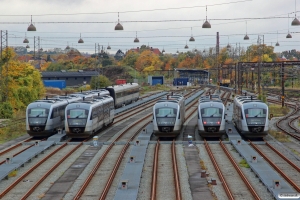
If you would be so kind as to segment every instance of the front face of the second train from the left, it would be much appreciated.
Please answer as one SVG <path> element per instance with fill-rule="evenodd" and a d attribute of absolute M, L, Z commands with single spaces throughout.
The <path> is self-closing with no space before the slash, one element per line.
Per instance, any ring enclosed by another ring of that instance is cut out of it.
<path fill-rule="evenodd" d="M 85 138 L 89 109 L 80 103 L 71 103 L 66 107 L 65 131 L 69 137 Z"/>

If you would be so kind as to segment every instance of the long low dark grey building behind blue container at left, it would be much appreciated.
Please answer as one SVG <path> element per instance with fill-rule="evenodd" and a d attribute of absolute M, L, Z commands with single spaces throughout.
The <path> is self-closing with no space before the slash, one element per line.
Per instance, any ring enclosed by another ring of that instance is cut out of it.
<path fill-rule="evenodd" d="M 83 71 L 76 72 L 61 71 L 43 71 L 42 80 L 65 80 L 66 86 L 79 86 L 89 84 L 93 76 L 99 76 L 97 71 Z"/>

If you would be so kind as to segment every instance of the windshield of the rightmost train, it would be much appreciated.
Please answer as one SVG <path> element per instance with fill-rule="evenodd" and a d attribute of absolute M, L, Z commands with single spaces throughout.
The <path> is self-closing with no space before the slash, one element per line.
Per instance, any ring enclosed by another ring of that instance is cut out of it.
<path fill-rule="evenodd" d="M 262 108 L 249 108 L 245 109 L 245 116 L 247 124 L 265 124 L 267 110 Z"/>

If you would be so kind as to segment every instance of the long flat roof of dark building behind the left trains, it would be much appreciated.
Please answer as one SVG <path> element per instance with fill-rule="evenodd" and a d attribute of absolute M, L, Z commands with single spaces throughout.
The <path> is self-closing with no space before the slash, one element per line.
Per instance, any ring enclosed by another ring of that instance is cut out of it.
<path fill-rule="evenodd" d="M 52 78 L 52 77 L 91 77 L 98 76 L 99 73 L 97 71 L 82 71 L 79 70 L 77 72 L 67 72 L 64 70 L 61 71 L 43 71 L 41 72 L 43 78 Z"/>

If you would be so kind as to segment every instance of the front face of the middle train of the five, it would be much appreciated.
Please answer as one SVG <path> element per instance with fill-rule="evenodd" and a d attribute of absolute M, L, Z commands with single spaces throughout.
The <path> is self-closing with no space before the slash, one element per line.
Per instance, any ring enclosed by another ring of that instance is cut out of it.
<path fill-rule="evenodd" d="M 181 123 L 179 117 L 180 110 L 177 103 L 156 103 L 153 106 L 154 135 L 158 137 L 175 137 L 180 134 Z"/>

